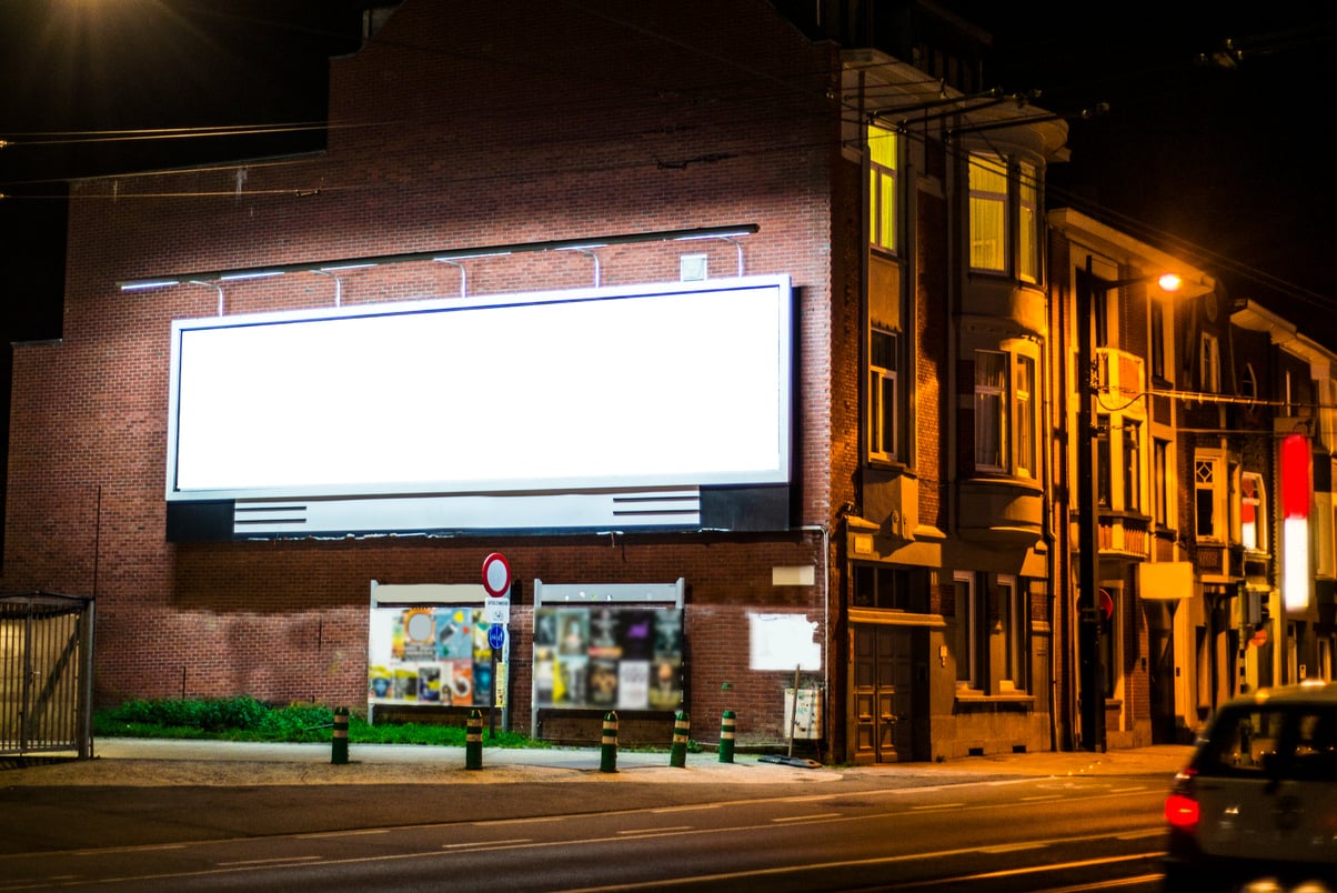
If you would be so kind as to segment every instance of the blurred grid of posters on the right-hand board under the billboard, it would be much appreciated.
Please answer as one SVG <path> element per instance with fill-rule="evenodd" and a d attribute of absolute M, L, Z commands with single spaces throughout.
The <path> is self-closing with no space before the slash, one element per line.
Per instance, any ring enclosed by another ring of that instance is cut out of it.
<path fill-rule="evenodd" d="M 682 611 L 537 608 L 537 707 L 677 710 L 682 706 Z"/>

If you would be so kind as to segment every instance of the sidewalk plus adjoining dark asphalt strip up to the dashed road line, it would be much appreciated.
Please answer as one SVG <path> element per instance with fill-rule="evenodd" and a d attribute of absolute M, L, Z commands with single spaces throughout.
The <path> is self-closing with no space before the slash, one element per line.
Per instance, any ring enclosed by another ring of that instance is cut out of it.
<path fill-rule="evenodd" d="M 1163 787 L 1189 747 L 1031 753 L 939 763 L 829 766 L 735 754 L 599 747 L 481 751 L 329 745 L 100 738 L 91 759 L 0 758 L 0 874 L 13 854 L 146 848 L 191 841 L 324 834 L 543 815 L 662 810 L 751 799 L 842 797 L 868 790 L 1106 775 Z M 1095 782 L 1102 779 L 1096 778 Z M 1068 781 L 1064 783 L 1080 783 Z"/>

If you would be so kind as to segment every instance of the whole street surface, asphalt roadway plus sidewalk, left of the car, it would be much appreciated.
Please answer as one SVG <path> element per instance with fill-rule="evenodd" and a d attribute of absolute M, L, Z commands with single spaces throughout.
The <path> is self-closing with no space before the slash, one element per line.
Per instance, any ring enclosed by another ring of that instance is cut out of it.
<path fill-rule="evenodd" d="M 579 750 L 206 747 L 0 773 L 0 890 L 1148 889 L 1183 753 L 604 773 Z"/>

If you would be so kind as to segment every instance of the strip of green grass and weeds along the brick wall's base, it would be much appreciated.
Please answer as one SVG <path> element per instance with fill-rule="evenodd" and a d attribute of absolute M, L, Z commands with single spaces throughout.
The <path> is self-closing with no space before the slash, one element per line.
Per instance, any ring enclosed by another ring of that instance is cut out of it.
<path fill-rule="evenodd" d="M 271 707 L 254 698 L 186 700 L 127 700 L 112 710 L 94 711 L 92 729 L 103 738 L 197 738 L 211 741 L 278 741 L 328 743 L 334 710 L 322 705 L 291 703 Z M 349 715 L 348 739 L 362 745 L 436 745 L 463 747 L 464 726 L 436 723 L 380 723 Z M 485 731 L 489 747 L 551 747 L 513 731 Z"/>

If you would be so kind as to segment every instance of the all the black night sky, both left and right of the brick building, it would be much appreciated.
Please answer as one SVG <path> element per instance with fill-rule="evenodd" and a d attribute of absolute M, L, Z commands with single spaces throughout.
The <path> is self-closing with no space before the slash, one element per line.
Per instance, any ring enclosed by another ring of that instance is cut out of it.
<path fill-rule="evenodd" d="M 320 132 L 143 131 L 320 120 L 326 57 L 356 49 L 361 5 L 0 0 L 0 139 L 13 143 L 0 150 L 11 197 L 0 201 L 0 338 L 59 337 L 63 178 L 318 147 Z M 1072 160 L 1050 171 L 1051 206 L 1187 253 L 1233 295 L 1337 346 L 1337 325 L 1318 330 L 1337 318 L 1324 164 L 1337 7 L 943 5 L 995 35 L 987 86 L 1039 90 L 1036 104 L 1064 115 L 1108 103 L 1070 124 Z"/>

